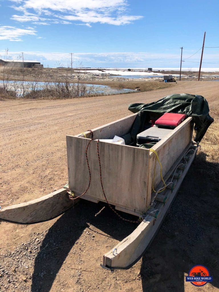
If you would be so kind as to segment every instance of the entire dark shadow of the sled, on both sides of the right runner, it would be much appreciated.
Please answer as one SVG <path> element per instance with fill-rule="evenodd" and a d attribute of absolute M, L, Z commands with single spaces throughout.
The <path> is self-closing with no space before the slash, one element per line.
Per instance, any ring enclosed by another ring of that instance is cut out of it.
<path fill-rule="evenodd" d="M 203 175 L 199 165 L 198 160 L 193 162 L 153 243 L 142 258 L 140 276 L 143 292 L 184 292 L 184 273 L 188 273 L 194 265 L 206 266 L 213 277 L 212 285 L 219 288 L 218 187 L 207 173 Z M 211 163 L 206 162 L 206 165 L 214 167 Z M 32 292 L 50 291 L 56 274 L 72 246 L 89 227 L 88 223 L 119 241 L 136 228 L 136 224 L 122 220 L 118 223 L 117 215 L 108 207 L 101 212 L 101 216 L 95 217 L 101 206 L 100 203 L 82 200 L 49 229 L 40 249 L 53 241 L 63 247 L 38 253 L 34 263 Z M 135 219 L 128 214 L 122 215 Z M 49 275 L 46 279 L 39 274 L 42 270 Z"/>

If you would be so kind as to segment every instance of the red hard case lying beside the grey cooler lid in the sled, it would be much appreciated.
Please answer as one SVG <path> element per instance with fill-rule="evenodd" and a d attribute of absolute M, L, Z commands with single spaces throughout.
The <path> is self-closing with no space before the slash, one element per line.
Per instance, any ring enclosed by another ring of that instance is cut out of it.
<path fill-rule="evenodd" d="M 155 125 L 158 127 L 177 127 L 185 119 L 185 114 L 173 114 L 166 112 L 156 122 Z"/>

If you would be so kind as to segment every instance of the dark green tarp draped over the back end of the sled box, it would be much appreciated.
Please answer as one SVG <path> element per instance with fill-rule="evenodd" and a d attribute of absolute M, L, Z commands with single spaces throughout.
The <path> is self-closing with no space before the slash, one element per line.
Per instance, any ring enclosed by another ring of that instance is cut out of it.
<path fill-rule="evenodd" d="M 158 119 L 165 112 L 186 114 L 187 117 L 192 117 L 196 132 L 194 140 L 197 143 L 201 141 L 208 127 L 214 121 L 209 116 L 207 100 L 201 95 L 187 93 L 171 94 L 148 104 L 132 103 L 128 106 L 128 109 L 133 113 L 138 112 L 138 115 L 132 126 L 131 133 L 123 137 L 127 144 L 136 141 L 137 134 L 144 131 L 146 123 L 151 119 Z"/>

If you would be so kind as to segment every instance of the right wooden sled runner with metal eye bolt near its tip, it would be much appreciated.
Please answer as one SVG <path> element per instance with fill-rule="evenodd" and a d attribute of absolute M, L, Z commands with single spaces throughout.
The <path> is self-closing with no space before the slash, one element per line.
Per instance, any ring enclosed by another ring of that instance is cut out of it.
<path fill-rule="evenodd" d="M 192 161 L 194 160 L 195 154 L 196 150 L 191 155 L 191 159 L 189 160 L 184 173 L 178 180 L 173 193 L 171 193 L 171 190 L 166 190 L 166 192 L 168 192 L 166 196 L 169 198 L 166 203 L 163 204 L 157 201 L 154 209 L 159 210 L 159 217 L 155 219 L 152 216 L 147 215 L 145 218 L 146 222 L 143 221 L 128 237 L 119 242 L 117 246 L 103 256 L 104 266 L 114 269 L 127 269 L 141 258 L 168 212 L 168 209 L 170 208 L 173 199 L 176 196 Z"/>

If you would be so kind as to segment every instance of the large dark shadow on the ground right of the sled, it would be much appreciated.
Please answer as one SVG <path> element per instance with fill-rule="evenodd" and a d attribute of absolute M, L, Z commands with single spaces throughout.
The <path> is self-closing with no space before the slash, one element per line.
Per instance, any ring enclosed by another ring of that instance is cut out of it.
<path fill-rule="evenodd" d="M 219 288 L 218 187 L 207 171 L 216 164 L 206 162 L 203 172 L 199 162 L 195 160 L 190 167 L 153 244 L 142 258 L 143 292 L 188 291 L 184 288 L 184 273 L 195 265 L 207 267 L 213 277 L 211 284 Z M 193 287 L 194 291 L 198 289 Z"/>

